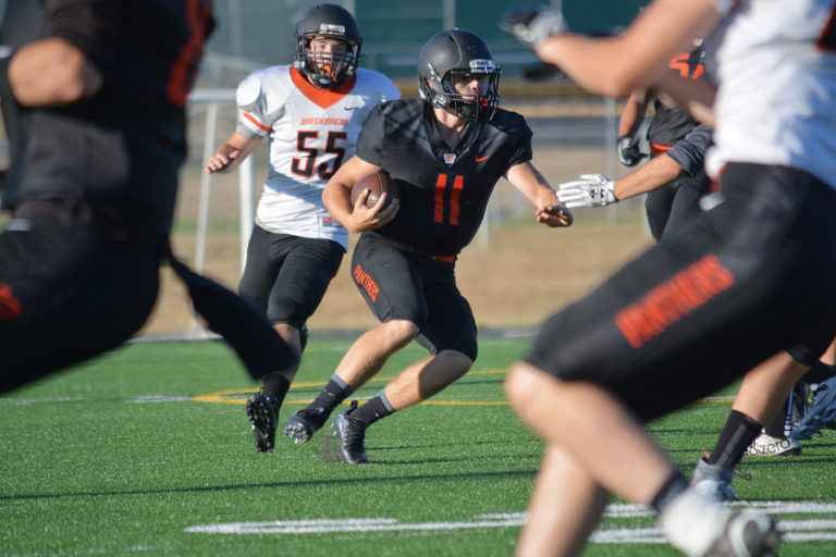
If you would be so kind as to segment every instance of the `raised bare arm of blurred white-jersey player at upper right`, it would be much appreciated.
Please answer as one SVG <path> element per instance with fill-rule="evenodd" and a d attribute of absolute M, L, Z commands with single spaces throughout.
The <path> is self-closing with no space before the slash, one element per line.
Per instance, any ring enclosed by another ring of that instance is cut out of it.
<path fill-rule="evenodd" d="M 720 18 L 712 0 L 655 0 L 615 37 L 571 33 L 552 11 L 509 14 L 505 26 L 585 89 L 618 98 L 656 83 L 671 55 L 706 36 Z"/>

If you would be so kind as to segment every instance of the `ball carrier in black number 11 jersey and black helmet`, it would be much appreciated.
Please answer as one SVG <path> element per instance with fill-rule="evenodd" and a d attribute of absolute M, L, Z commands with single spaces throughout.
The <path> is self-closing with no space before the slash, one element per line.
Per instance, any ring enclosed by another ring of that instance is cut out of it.
<path fill-rule="evenodd" d="M 537 221 L 568 226 L 571 215 L 531 164 L 531 131 L 522 116 L 496 108 L 500 69 L 476 34 L 433 36 L 418 57 L 421 99 L 380 104 L 364 124 L 357 156 L 325 186 L 331 214 L 362 233 L 352 274 L 381 321 L 348 349 L 322 393 L 287 420 L 286 433 L 308 441 L 331 411 L 417 339 L 430 356 L 406 368 L 364 406 L 334 420 L 345 462 L 367 462 L 364 437 L 374 421 L 439 393 L 465 374 L 477 355 L 470 306 L 455 282 L 455 260 L 474 238 L 501 176 L 537 207 Z M 385 171 L 401 196 L 366 207 L 351 191 Z"/>

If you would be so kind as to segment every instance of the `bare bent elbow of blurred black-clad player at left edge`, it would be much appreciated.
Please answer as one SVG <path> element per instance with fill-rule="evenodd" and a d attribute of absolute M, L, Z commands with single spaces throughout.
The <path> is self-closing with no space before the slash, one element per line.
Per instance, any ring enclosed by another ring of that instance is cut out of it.
<path fill-rule="evenodd" d="M 103 83 L 102 73 L 82 49 L 60 37 L 25 45 L 2 65 L 7 65 L 5 94 L 24 107 L 76 102 L 98 92 Z"/>

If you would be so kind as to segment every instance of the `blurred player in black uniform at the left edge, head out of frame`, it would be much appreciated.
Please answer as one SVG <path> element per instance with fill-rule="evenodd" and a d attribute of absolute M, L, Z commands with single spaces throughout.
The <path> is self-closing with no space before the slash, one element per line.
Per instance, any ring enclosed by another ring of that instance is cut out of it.
<path fill-rule="evenodd" d="M 126 341 L 165 259 L 254 377 L 296 358 L 255 308 L 169 247 L 186 100 L 212 25 L 202 0 L 7 2 L 0 391 Z"/>

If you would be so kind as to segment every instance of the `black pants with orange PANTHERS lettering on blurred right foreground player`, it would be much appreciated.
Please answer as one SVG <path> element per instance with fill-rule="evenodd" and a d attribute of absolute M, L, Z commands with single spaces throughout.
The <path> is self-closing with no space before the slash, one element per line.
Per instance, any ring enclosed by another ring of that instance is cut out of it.
<path fill-rule="evenodd" d="M 550 318 L 526 361 L 600 384 L 649 420 L 780 350 L 812 363 L 836 334 L 836 191 L 728 164 L 725 201 Z"/>

